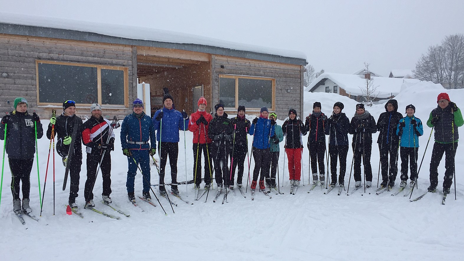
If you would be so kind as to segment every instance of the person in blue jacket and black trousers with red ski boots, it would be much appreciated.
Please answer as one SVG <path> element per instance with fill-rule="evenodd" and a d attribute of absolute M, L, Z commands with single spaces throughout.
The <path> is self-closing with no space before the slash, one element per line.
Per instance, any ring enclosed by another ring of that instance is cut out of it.
<path fill-rule="evenodd" d="M 253 181 L 251 182 L 251 189 L 256 189 L 256 183 L 259 176 L 259 189 L 264 190 L 264 178 L 266 173 L 269 173 L 271 167 L 271 152 L 269 141 L 275 138 L 274 125 L 276 121 L 269 120 L 267 116 L 269 111 L 266 107 L 261 108 L 259 118 L 253 120 L 250 127 L 250 135 L 253 135 L 253 159 L 255 160 L 255 169 L 253 170 Z M 261 171 L 261 175 L 259 175 Z"/>

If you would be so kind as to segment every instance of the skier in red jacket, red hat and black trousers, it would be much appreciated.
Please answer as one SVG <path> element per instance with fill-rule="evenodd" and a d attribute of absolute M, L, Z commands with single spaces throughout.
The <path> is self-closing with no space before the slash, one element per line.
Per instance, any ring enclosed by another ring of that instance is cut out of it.
<path fill-rule="evenodd" d="M 208 145 L 212 140 L 208 137 L 208 124 L 213 120 L 213 116 L 206 112 L 206 99 L 200 97 L 198 100 L 198 110 L 190 116 L 188 130 L 193 132 L 193 182 L 195 189 L 200 188 L 201 184 L 201 151 L 205 157 L 205 189 L 209 189 L 211 177 L 213 176 L 213 166 L 211 163 L 211 152 Z"/>

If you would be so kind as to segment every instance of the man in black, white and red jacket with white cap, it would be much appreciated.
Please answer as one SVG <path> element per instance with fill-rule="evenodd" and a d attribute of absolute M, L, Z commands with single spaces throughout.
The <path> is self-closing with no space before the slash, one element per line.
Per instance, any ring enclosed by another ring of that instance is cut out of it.
<path fill-rule="evenodd" d="M 98 103 L 90 105 L 92 116 L 84 123 L 82 131 L 82 142 L 87 153 L 87 181 L 85 182 L 84 197 L 86 207 L 95 207 L 93 203 L 93 187 L 96 182 L 96 172 L 100 161 L 103 177 L 103 201 L 111 203 L 111 156 L 114 151 L 115 134 L 110 127 L 111 122 L 102 117 L 102 107 Z M 110 140 L 108 136 L 110 135 Z M 108 141 L 108 142 L 107 142 Z M 103 155 L 103 152 L 104 155 Z M 103 156 L 103 160 L 102 160 Z"/>

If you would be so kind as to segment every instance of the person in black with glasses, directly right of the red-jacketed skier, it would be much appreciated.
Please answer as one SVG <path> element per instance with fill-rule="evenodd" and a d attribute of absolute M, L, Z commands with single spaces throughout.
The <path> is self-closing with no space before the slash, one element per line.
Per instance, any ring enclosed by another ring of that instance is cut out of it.
<path fill-rule="evenodd" d="M 227 165 L 227 156 L 232 141 L 232 127 L 231 121 L 224 112 L 224 105 L 216 104 L 214 109 L 216 114 L 209 123 L 208 136 L 213 140 L 211 154 L 214 160 L 214 175 L 218 184 L 218 191 L 221 191 L 223 179 L 224 185 L 233 185 L 229 166 Z"/>

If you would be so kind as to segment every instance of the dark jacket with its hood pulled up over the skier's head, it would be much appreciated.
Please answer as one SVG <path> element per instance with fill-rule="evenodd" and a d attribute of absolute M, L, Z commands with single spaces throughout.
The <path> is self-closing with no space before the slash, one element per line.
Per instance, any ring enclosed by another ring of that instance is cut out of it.
<path fill-rule="evenodd" d="M 393 111 L 388 112 L 387 104 L 391 103 L 393 105 Z M 403 115 L 397 112 L 398 110 L 398 102 L 394 99 L 388 100 L 385 103 L 385 110 L 379 116 L 379 120 L 377 121 L 377 131 L 379 131 L 379 138 L 377 139 L 377 143 L 382 145 L 395 145 L 398 144 L 399 136 L 396 135 L 396 127 L 401 119 L 403 119 Z"/>

